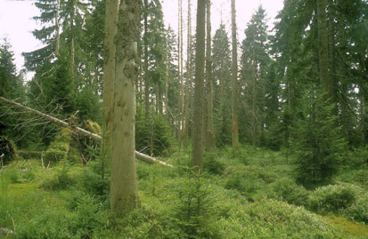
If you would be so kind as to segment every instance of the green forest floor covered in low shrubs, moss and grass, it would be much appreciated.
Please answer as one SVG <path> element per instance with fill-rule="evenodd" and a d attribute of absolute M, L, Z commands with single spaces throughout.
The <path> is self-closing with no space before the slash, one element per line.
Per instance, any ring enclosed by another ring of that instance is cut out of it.
<path fill-rule="evenodd" d="M 0 170 L 0 238 L 368 238 L 366 165 L 307 190 L 282 152 L 219 149 L 201 176 L 187 152 L 164 160 L 176 167 L 137 163 L 141 205 L 123 219 L 102 162 L 12 162 Z"/>

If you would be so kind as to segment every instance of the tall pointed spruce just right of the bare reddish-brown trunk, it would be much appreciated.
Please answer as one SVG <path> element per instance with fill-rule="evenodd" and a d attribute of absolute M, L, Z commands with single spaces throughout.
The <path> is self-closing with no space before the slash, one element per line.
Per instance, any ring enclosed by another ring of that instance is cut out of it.
<path fill-rule="evenodd" d="M 259 6 L 253 14 L 247 28 L 245 39 L 242 42 L 241 79 L 244 84 L 243 101 L 247 102 L 250 110 L 241 114 L 241 125 L 251 125 L 249 131 L 254 147 L 264 141 L 266 130 L 265 110 L 266 106 L 266 81 L 271 59 L 269 57 L 269 45 L 266 25 L 266 12 Z M 268 125 L 267 125 L 268 126 Z M 243 136 L 246 138 L 246 135 Z"/>

